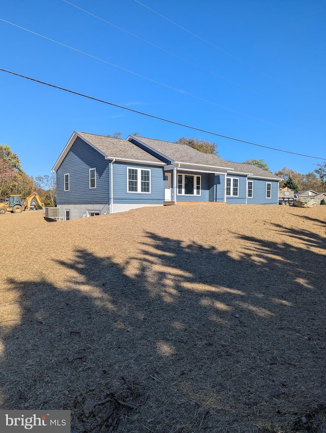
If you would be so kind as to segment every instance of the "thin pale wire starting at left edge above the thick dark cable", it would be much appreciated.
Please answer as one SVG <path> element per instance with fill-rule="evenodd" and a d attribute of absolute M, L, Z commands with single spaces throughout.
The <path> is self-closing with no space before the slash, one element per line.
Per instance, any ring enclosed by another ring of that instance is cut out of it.
<path fill-rule="evenodd" d="M 220 107 L 220 108 L 222 108 L 224 110 L 231 111 L 232 113 L 236 113 L 236 114 L 239 114 L 241 116 L 246 116 L 246 117 L 249 117 L 250 119 L 258 120 L 259 122 L 266 123 L 266 124 L 271 125 L 271 126 L 276 126 L 277 128 L 286 129 L 286 130 L 291 131 L 291 132 L 305 134 L 306 136 L 314 138 L 314 139 L 319 139 L 318 137 L 310 136 L 309 134 L 307 134 L 305 132 L 296 131 L 294 129 L 286 128 L 285 126 L 281 126 L 281 125 L 278 125 L 276 123 L 267 122 L 266 120 L 259 119 L 258 117 L 254 117 L 254 116 L 250 116 L 249 114 L 241 113 L 240 111 L 230 109 L 229 107 L 226 107 L 224 105 L 218 104 L 217 102 L 213 102 L 213 101 L 210 101 L 208 99 L 201 98 L 200 96 L 193 95 L 192 93 L 188 93 L 188 92 L 185 92 L 184 90 L 180 90 L 180 89 L 177 89 L 175 87 L 169 86 L 167 84 L 161 83 L 161 82 L 159 82 L 159 81 L 157 81 L 157 80 L 155 80 L 153 78 L 149 78 L 149 77 L 147 77 L 145 75 L 139 74 L 137 72 L 133 72 L 133 71 L 131 71 L 129 69 L 123 68 L 122 66 L 115 65 L 114 63 L 108 62 L 107 60 L 104 60 L 104 59 L 101 59 L 99 57 L 93 56 L 92 54 L 89 54 L 89 53 L 87 53 L 85 51 L 82 51 L 80 49 L 74 48 L 74 47 L 72 47 L 70 45 L 66 45 L 66 44 L 64 44 L 62 42 L 56 41 L 55 39 L 48 38 L 47 36 L 41 35 L 40 33 L 33 32 L 32 30 L 29 30 L 29 29 L 25 29 L 21 25 L 14 24 L 13 22 L 7 21 L 7 20 L 5 20 L 3 18 L 0 18 L 0 21 L 4 21 L 4 22 L 6 22 L 8 24 L 13 25 L 14 27 L 17 27 L 18 29 L 24 30 L 26 32 L 32 33 L 33 35 L 39 36 L 39 37 L 41 37 L 43 39 L 46 39 L 48 41 L 55 42 L 56 44 L 59 44 L 59 45 L 64 46 L 66 48 L 72 49 L 73 51 L 79 52 L 80 54 L 84 54 L 85 56 L 91 57 L 92 59 L 99 60 L 100 62 L 106 63 L 107 65 L 114 66 L 115 68 L 121 69 L 122 71 L 129 72 L 130 74 L 133 74 L 133 75 L 136 75 L 138 77 L 147 79 L 147 80 L 151 81 L 152 83 L 158 84 L 159 86 L 166 87 L 166 88 L 174 90 L 174 91 L 176 91 L 178 93 L 182 93 L 184 95 L 190 96 L 190 97 L 198 99 L 200 101 L 203 101 L 203 102 L 206 102 L 206 103 L 218 106 L 218 107 Z"/>

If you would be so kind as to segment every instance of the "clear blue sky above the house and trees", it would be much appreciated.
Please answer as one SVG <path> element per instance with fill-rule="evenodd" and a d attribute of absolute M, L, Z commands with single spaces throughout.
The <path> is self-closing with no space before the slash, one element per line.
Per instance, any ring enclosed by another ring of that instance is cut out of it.
<path fill-rule="evenodd" d="M 0 21 L 0 68 L 225 136 L 326 158 L 322 0 L 141 0 L 163 17 L 135 0 L 70 3 L 102 20 L 64 0 L 2 0 L 0 18 L 16 26 Z M 273 172 L 286 166 L 307 173 L 324 162 L 213 137 L 1 71 L 0 89 L 0 143 L 32 176 L 49 174 L 74 130 L 121 131 L 123 138 L 138 131 L 167 141 L 199 137 L 215 141 L 222 158 L 264 158 Z"/>

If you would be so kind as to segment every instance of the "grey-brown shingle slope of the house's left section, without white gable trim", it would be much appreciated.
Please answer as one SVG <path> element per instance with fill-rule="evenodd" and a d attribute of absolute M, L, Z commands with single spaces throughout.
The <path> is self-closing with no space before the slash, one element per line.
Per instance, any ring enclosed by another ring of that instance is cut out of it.
<path fill-rule="evenodd" d="M 80 138 L 88 141 L 108 157 L 161 163 L 155 156 L 150 155 L 148 152 L 145 152 L 127 140 L 97 136 L 87 132 L 77 132 L 77 134 Z"/>

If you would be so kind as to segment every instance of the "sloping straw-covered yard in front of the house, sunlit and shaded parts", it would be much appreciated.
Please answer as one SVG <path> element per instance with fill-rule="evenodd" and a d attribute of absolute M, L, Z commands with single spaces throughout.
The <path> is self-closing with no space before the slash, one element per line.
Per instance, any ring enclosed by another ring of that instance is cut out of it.
<path fill-rule="evenodd" d="M 326 206 L 0 215 L 2 409 L 75 431 L 326 432 Z"/>

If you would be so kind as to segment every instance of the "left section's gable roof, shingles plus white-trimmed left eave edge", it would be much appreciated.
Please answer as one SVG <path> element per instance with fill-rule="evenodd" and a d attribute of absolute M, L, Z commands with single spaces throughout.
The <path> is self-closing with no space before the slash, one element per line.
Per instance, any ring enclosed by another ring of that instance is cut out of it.
<path fill-rule="evenodd" d="M 150 155 L 148 152 L 145 152 L 145 150 L 140 149 L 127 140 L 74 131 L 64 150 L 61 152 L 61 155 L 57 159 L 56 164 L 53 166 L 52 171 L 58 170 L 71 146 L 78 137 L 97 150 L 105 159 L 115 158 L 119 161 L 147 163 L 160 166 L 165 165 L 161 160 L 155 158 L 155 156 Z"/>

